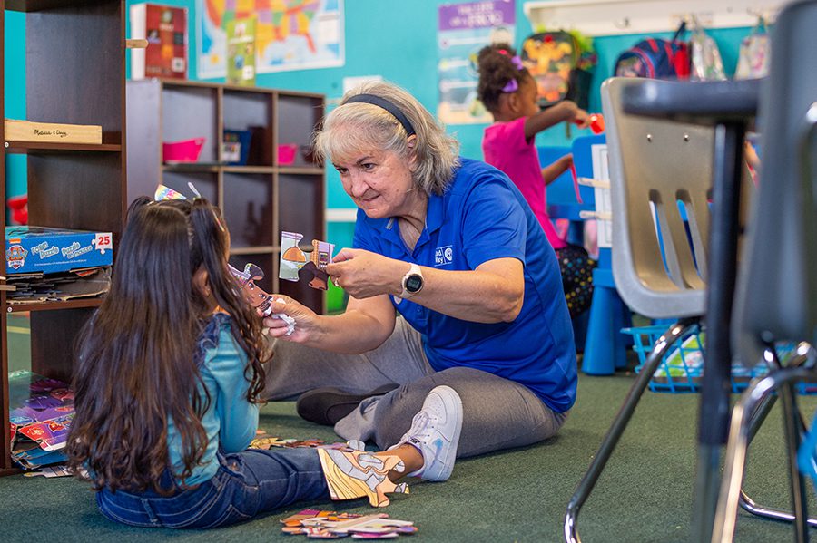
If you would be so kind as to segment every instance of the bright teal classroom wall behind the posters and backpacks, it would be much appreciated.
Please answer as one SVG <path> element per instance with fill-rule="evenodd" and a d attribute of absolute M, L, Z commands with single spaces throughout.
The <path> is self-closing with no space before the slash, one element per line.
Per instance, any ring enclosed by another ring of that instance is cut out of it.
<path fill-rule="evenodd" d="M 129 0 L 128 5 L 135 2 Z M 167 5 L 187 7 L 190 21 L 190 77 L 195 78 L 195 2 L 192 0 L 163 0 Z M 303 70 L 299 72 L 261 73 L 256 84 L 298 91 L 321 92 L 328 99 L 340 98 L 343 78 L 357 75 L 381 75 L 412 92 L 431 112 L 437 109 L 437 26 L 438 7 L 450 0 L 346 0 L 345 36 L 346 63 L 338 68 Z M 516 39 L 519 44 L 533 29 L 523 11 L 524 2 L 517 0 Z M 724 63 L 731 73 L 737 58 L 740 39 L 748 29 L 728 29 L 710 32 L 721 47 Z M 670 33 L 667 33 L 668 37 Z M 596 39 L 599 66 L 591 96 L 591 110 L 600 111 L 597 87 L 612 73 L 618 53 L 642 39 L 641 35 L 614 36 Z M 207 80 L 223 81 L 223 80 Z M 462 154 L 482 158 L 481 141 L 485 125 L 449 126 L 462 144 Z M 572 136 L 582 131 L 572 130 Z M 566 131 L 561 127 L 541 134 L 540 145 L 568 145 Z M 354 207 L 340 187 L 334 171 L 327 174 L 327 200 L 330 208 Z M 330 225 L 331 233 L 332 225 Z M 344 228 L 345 230 L 346 228 Z M 332 239 L 330 237 L 330 239 Z M 337 239 L 332 239 L 338 241 Z M 345 242 L 344 242 L 345 244 Z"/>

